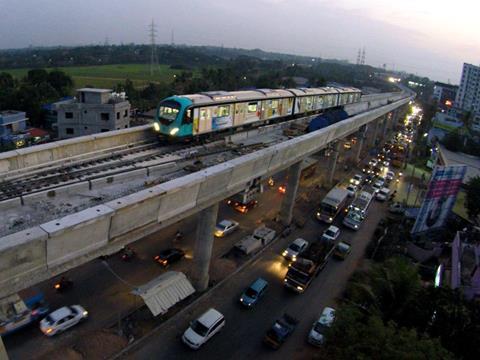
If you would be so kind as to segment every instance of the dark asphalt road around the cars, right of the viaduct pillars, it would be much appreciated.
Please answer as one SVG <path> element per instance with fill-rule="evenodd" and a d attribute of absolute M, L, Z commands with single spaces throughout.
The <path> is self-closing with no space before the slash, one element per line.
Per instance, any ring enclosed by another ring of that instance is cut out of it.
<path fill-rule="evenodd" d="M 344 261 L 331 259 L 304 294 L 295 294 L 283 287 L 287 267 L 279 254 L 296 237 L 312 241 L 327 227 L 312 218 L 304 229 L 275 243 L 253 265 L 211 291 L 191 311 L 180 314 L 174 322 L 166 324 L 149 339 L 148 343 L 142 343 L 140 349 L 128 358 L 151 359 L 152 354 L 161 354 L 162 359 L 191 358 L 193 351 L 181 342 L 181 334 L 191 320 L 210 307 L 224 314 L 226 326 L 195 354 L 195 358 L 266 359 L 273 356 L 279 359 L 311 358 L 316 351 L 306 343 L 311 325 L 318 319 L 323 307 L 335 307 L 335 299 L 341 294 L 346 281 L 362 261 L 365 247 L 385 208 L 385 203 L 375 202 L 370 208 L 366 222 L 358 232 L 342 228 L 340 238 L 351 242 L 352 253 Z M 238 298 L 245 287 L 258 277 L 269 282 L 269 289 L 256 308 L 243 309 L 238 303 Z M 262 338 L 275 319 L 284 312 L 300 319 L 300 323 L 280 350 L 272 351 L 262 345 Z"/>

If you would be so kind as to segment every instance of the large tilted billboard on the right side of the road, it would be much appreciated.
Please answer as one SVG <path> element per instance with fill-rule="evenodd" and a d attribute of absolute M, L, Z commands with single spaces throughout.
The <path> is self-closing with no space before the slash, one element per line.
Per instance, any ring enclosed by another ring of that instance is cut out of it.
<path fill-rule="evenodd" d="M 455 204 L 466 171 L 467 167 L 464 165 L 435 167 L 412 234 L 444 225 Z"/>

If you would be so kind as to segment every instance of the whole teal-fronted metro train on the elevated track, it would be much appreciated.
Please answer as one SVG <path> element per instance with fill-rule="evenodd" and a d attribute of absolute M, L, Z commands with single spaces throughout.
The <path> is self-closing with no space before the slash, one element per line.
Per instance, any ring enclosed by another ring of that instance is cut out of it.
<path fill-rule="evenodd" d="M 211 91 L 162 100 L 154 129 L 169 138 L 202 137 L 238 127 L 313 115 L 358 102 L 356 88 L 322 87 Z"/>

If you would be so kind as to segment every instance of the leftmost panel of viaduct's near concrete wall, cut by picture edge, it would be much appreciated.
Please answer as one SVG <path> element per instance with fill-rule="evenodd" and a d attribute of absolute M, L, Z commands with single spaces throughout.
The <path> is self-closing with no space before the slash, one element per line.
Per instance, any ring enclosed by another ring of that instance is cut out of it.
<path fill-rule="evenodd" d="M 1 239 L 0 298 L 12 294 L 12 288 L 23 289 L 43 280 L 47 238 L 48 234 L 36 226 Z"/>

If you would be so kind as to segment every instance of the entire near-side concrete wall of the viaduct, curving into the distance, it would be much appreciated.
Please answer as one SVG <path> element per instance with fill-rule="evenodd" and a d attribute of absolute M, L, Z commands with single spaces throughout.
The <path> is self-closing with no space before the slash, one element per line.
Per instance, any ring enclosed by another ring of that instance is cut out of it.
<path fill-rule="evenodd" d="M 398 95 L 397 95 L 398 96 Z M 388 112 L 401 100 L 283 143 L 0 239 L 0 298 L 125 244 L 281 171 Z"/>

